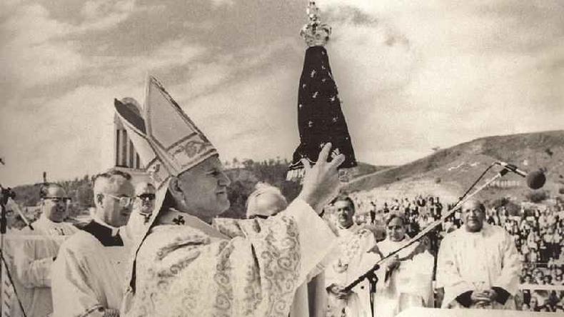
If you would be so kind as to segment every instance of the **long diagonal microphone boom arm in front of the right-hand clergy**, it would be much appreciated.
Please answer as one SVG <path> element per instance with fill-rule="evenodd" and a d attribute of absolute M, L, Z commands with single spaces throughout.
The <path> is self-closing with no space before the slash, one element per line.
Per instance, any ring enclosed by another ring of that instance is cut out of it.
<path fill-rule="evenodd" d="M 506 173 L 508 173 L 510 171 L 507 168 L 503 168 L 503 170 L 501 170 L 499 173 L 496 173 L 495 176 L 493 176 L 492 178 L 488 179 L 488 181 L 486 181 L 482 186 L 480 186 L 478 189 L 476 189 L 473 193 L 470 193 L 472 188 L 474 188 L 474 186 L 480 181 L 480 179 L 483 178 L 485 173 L 487 173 L 490 170 L 490 168 L 495 166 L 495 164 L 497 164 L 497 162 L 492 163 L 490 166 L 488 166 L 488 168 L 485 169 L 485 171 L 483 171 L 483 173 L 480 174 L 478 179 L 476 179 L 476 181 L 474 181 L 474 183 L 470 186 L 470 188 L 468 188 L 468 190 L 463 194 L 463 196 L 458 198 L 458 201 L 455 203 L 455 205 L 452 208 L 450 208 L 450 210 L 447 211 L 445 213 L 445 215 L 440 217 L 440 219 L 435 220 L 432 223 L 430 223 L 429 226 L 425 227 L 420 233 L 418 233 L 416 236 L 411 238 L 405 245 L 401 246 L 400 248 L 397 248 L 396 250 L 389 253 L 387 256 L 384 256 L 383 258 L 381 258 L 378 262 L 376 262 L 376 264 L 374 264 L 374 266 L 370 270 L 368 270 L 366 273 L 359 276 L 358 278 L 356 278 L 356 280 L 354 280 L 350 284 L 348 284 L 348 286 L 343 288 L 343 291 L 347 291 L 347 292 L 351 291 L 351 289 L 353 289 L 355 286 L 357 286 L 358 283 L 361 283 L 361 281 L 363 281 L 365 278 L 368 278 L 368 280 L 371 281 L 371 283 L 376 283 L 377 279 L 374 280 L 373 277 L 376 276 L 376 271 L 378 271 L 378 269 L 380 268 L 381 263 L 383 263 L 383 261 L 386 261 L 388 258 L 391 258 L 392 256 L 396 255 L 397 253 L 399 253 L 403 249 L 405 249 L 408 246 L 411 246 L 413 243 L 416 243 L 417 241 L 421 240 L 421 238 L 426 236 L 430 231 L 432 231 L 434 228 L 436 228 L 438 225 L 440 225 L 440 223 L 443 223 L 443 221 L 445 221 L 446 218 L 448 218 L 453 213 L 455 213 L 455 211 L 463 203 L 465 203 L 465 201 L 468 201 L 468 199 L 472 198 L 473 196 L 475 196 L 475 194 L 482 191 L 484 188 L 486 188 L 488 185 L 490 185 L 490 183 L 492 183 L 493 181 L 497 180 L 498 178 L 504 176 Z"/>

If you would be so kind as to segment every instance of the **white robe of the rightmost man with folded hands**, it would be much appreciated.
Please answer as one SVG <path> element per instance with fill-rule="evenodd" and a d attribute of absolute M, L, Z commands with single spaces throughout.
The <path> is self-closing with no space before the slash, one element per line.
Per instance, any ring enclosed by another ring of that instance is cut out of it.
<path fill-rule="evenodd" d="M 513 237 L 503 228 L 483 224 L 479 232 L 465 227 L 448 233 L 440 243 L 437 288 L 445 288 L 443 308 L 457 307 L 455 300 L 468 291 L 501 288 L 508 295 L 518 291 L 520 261 Z M 514 307 L 508 300 L 505 308 Z M 495 302 L 492 308 L 504 308 Z"/>

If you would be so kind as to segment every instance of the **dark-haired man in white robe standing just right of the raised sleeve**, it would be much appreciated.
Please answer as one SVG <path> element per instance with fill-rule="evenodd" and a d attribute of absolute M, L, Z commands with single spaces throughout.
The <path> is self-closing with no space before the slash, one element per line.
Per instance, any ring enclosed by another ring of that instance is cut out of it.
<path fill-rule="evenodd" d="M 354 203 L 348 196 L 333 201 L 337 215 L 337 245 L 325 271 L 328 316 L 370 317 L 370 285 L 364 280 L 350 292 L 342 291 L 380 259 L 372 231 L 353 222 Z"/>

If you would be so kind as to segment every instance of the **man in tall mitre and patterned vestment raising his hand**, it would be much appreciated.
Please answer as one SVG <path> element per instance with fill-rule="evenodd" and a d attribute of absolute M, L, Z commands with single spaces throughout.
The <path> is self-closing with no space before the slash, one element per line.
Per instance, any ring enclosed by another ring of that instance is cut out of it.
<path fill-rule="evenodd" d="M 287 317 L 296 288 L 333 244 L 318 213 L 338 191 L 344 156 L 328 162 L 326 144 L 314 166 L 304 160 L 303 188 L 288 208 L 260 231 L 241 220 L 244 234 L 222 233 L 208 224 L 230 206 L 218 152 L 156 79 L 147 84 L 143 109 L 115 102 L 157 188 L 122 316 Z"/>

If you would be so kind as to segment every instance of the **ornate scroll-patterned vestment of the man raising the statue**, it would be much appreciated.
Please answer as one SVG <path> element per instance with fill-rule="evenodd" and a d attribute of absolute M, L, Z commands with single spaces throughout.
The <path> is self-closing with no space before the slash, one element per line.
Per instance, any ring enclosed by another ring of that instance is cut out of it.
<path fill-rule="evenodd" d="M 241 221 L 245 236 L 173 209 L 158 221 L 139 249 L 122 316 L 288 317 L 296 288 L 335 237 L 300 200 L 260 231 Z"/>

